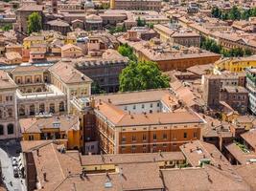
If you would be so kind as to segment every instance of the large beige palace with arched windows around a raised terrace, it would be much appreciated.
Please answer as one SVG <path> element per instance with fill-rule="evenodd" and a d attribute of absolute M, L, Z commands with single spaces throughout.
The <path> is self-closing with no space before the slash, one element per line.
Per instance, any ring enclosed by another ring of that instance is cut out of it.
<path fill-rule="evenodd" d="M 89 96 L 92 80 L 73 66 L 17 66 L 0 71 L 0 139 L 19 138 L 17 120 L 67 114 L 73 96 Z"/>

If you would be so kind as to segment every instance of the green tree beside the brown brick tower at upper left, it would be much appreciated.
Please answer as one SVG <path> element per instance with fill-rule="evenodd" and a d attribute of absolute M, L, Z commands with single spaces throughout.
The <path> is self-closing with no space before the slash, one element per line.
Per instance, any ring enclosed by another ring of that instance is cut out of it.
<path fill-rule="evenodd" d="M 39 32 L 42 29 L 42 17 L 38 12 L 33 12 L 28 20 L 28 33 Z"/>

